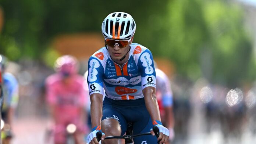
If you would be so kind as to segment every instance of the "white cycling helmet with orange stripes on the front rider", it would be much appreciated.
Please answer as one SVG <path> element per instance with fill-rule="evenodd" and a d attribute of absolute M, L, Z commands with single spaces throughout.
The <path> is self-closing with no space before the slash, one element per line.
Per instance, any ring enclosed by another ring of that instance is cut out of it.
<path fill-rule="evenodd" d="M 113 12 L 102 23 L 105 39 L 129 40 L 134 35 L 135 29 L 134 19 L 125 12 Z"/>

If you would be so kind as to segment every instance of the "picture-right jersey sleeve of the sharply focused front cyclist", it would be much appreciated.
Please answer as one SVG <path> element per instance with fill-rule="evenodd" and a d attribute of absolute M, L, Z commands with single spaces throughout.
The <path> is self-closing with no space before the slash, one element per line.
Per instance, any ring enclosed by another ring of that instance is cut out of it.
<path fill-rule="evenodd" d="M 156 71 L 154 68 L 153 55 L 146 49 L 138 60 L 138 69 L 141 72 L 142 90 L 145 87 L 156 87 Z"/>

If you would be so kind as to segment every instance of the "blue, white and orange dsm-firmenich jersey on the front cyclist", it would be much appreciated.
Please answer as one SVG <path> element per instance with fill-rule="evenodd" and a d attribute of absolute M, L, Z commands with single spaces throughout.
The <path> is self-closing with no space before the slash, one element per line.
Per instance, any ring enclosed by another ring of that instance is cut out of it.
<path fill-rule="evenodd" d="M 143 98 L 145 87 L 156 87 L 153 56 L 146 47 L 132 43 L 128 61 L 120 66 L 103 47 L 89 59 L 87 80 L 90 95 L 104 95 L 104 88 L 106 97 L 113 100 Z"/>

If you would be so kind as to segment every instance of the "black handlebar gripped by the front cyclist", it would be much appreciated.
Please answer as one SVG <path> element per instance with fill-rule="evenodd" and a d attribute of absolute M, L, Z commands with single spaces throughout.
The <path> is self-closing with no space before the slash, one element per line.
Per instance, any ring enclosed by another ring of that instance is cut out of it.
<path fill-rule="evenodd" d="M 153 126 L 153 132 L 155 133 L 156 137 L 158 138 L 159 137 L 159 129 L 157 126 Z M 144 135 L 151 135 L 150 132 L 148 133 L 140 133 L 140 134 L 136 134 L 136 135 L 125 135 L 125 136 L 108 136 L 108 137 L 105 137 L 105 140 L 106 139 L 111 139 L 111 138 L 122 138 L 122 139 L 126 139 L 126 138 L 134 138 L 134 137 L 138 137 L 138 136 L 144 136 Z M 101 137 L 102 137 L 102 132 L 97 132 L 96 133 L 96 138 L 97 138 L 97 141 L 100 141 L 101 140 Z M 157 144 L 159 144 L 160 140 L 157 141 Z"/>

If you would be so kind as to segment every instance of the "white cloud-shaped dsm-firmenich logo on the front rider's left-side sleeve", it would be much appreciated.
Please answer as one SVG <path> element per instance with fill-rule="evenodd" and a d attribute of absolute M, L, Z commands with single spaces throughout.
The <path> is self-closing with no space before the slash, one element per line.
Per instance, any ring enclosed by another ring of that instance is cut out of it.
<path fill-rule="evenodd" d="M 89 72 L 88 81 L 94 82 L 95 80 L 97 80 L 96 75 L 98 74 L 98 71 L 96 68 L 100 67 L 100 63 L 97 60 L 92 59 L 90 60 L 89 65 L 90 65 L 90 68 L 88 70 Z"/>

